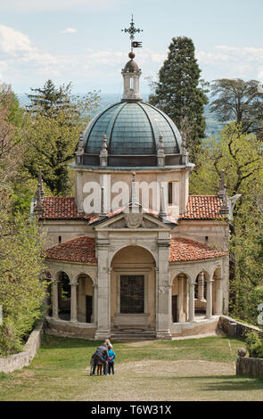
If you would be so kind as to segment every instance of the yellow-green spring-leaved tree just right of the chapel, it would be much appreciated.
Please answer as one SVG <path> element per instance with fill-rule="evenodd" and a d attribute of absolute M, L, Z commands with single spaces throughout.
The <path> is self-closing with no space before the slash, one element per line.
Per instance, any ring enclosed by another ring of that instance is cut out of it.
<path fill-rule="evenodd" d="M 259 139 L 243 134 L 241 125 L 226 126 L 219 138 L 209 138 L 193 170 L 190 192 L 214 194 L 222 169 L 228 196 L 241 194 L 230 221 L 230 307 L 244 318 L 248 294 L 263 284 L 263 157 Z"/>

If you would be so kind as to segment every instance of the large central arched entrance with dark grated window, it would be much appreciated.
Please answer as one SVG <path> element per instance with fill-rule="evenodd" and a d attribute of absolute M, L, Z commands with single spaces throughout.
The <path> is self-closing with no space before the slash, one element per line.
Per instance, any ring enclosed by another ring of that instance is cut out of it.
<path fill-rule="evenodd" d="M 111 261 L 111 329 L 155 329 L 155 260 L 127 246 Z"/>

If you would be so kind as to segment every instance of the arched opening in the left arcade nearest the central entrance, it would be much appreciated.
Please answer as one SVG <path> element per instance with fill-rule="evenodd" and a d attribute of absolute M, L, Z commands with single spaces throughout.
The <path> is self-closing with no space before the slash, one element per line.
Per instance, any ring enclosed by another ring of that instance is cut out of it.
<path fill-rule="evenodd" d="M 80 274 L 77 283 L 78 322 L 93 323 L 95 318 L 93 280 L 86 274 Z"/>

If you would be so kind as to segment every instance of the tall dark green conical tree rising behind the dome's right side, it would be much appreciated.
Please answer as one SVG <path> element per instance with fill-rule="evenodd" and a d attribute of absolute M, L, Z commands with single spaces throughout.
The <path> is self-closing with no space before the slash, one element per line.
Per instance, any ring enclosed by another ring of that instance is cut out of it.
<path fill-rule="evenodd" d="M 185 132 L 187 149 L 194 162 L 205 136 L 203 106 L 208 103 L 205 84 L 200 78 L 191 38 L 173 37 L 168 48 L 168 58 L 159 71 L 159 81 L 153 85 L 149 102 Z"/>

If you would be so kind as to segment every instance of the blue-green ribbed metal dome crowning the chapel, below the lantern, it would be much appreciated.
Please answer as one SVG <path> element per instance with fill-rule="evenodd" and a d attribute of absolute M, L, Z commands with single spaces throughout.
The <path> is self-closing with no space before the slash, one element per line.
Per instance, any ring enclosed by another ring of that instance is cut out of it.
<path fill-rule="evenodd" d="M 165 154 L 179 154 L 181 136 L 171 119 L 149 103 L 120 102 L 109 106 L 93 119 L 84 132 L 84 153 L 98 155 L 103 135 L 109 156 L 155 155 L 159 136 Z"/>

